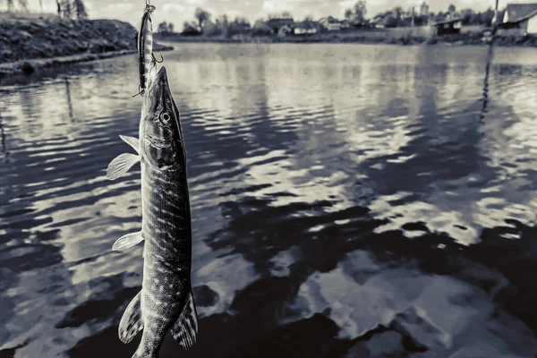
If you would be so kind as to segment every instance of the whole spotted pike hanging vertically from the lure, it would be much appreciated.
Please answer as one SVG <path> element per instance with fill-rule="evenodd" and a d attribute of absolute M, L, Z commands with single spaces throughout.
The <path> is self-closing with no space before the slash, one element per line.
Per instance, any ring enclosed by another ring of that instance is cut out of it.
<path fill-rule="evenodd" d="M 179 110 L 166 68 L 143 98 L 140 141 L 121 136 L 138 155 L 124 153 L 107 168 L 108 179 L 141 163 L 141 231 L 119 238 L 112 250 L 144 241 L 141 292 L 124 312 L 119 338 L 129 343 L 143 329 L 132 358 L 157 358 L 168 330 L 188 350 L 196 342 L 198 318 L 191 286 L 192 227 L 186 154 Z"/>

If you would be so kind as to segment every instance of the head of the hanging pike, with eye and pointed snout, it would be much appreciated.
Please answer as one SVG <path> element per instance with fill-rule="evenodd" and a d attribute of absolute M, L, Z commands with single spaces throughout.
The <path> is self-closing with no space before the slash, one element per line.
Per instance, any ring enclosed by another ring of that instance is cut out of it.
<path fill-rule="evenodd" d="M 179 110 L 164 66 L 150 81 L 145 93 L 140 126 L 141 154 L 149 166 L 164 171 L 184 165 Z"/>

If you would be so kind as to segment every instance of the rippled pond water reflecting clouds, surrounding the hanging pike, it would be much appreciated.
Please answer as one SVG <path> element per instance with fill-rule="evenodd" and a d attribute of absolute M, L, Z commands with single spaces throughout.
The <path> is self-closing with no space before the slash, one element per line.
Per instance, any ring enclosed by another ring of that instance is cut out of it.
<path fill-rule="evenodd" d="M 161 357 L 536 356 L 537 50 L 176 48 L 200 335 Z M 0 357 L 140 341 L 136 71 L 0 82 Z"/>

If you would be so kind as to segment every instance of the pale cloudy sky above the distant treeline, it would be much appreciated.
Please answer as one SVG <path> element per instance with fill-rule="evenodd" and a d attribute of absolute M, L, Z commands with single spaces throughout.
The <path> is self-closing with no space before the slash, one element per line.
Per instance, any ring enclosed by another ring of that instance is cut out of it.
<path fill-rule="evenodd" d="M 55 12 L 55 0 L 42 1 L 46 13 Z M 38 11 L 38 0 L 28 0 L 28 2 L 30 11 Z M 366 18 L 397 5 L 407 9 L 412 6 L 419 8 L 422 4 L 422 0 L 366 0 L 366 2 Z M 433 12 L 447 11 L 449 4 L 454 4 L 457 9 L 470 7 L 480 11 L 495 5 L 495 0 L 428 0 L 427 2 Z M 499 7 L 504 7 L 507 3 L 528 2 L 531 1 L 499 0 Z M 152 17 L 155 30 L 157 30 L 156 25 L 162 21 L 172 22 L 176 30 L 183 30 L 184 21 L 194 20 L 196 7 L 209 11 L 212 19 L 226 13 L 231 18 L 236 15 L 246 16 L 253 22 L 259 18 L 266 18 L 269 13 L 283 11 L 291 12 L 295 20 L 302 20 L 307 15 L 311 15 L 314 19 L 329 15 L 343 18 L 345 9 L 352 7 L 354 3 L 354 0 L 151 0 L 151 4 L 157 7 Z M 90 19 L 117 19 L 129 22 L 138 28 L 145 0 L 84 0 L 84 4 L 88 8 Z"/>

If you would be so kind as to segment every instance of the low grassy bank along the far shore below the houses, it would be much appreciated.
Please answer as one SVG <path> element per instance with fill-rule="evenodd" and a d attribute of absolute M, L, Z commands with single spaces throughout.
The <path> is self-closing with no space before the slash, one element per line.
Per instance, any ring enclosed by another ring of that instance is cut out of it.
<path fill-rule="evenodd" d="M 394 45 L 439 45 L 464 46 L 484 45 L 480 29 L 463 30 L 458 35 L 433 37 L 427 28 L 399 28 L 386 30 L 347 30 L 323 32 L 308 36 L 276 35 L 255 36 L 252 34 L 234 35 L 232 38 L 223 36 L 182 36 L 180 34 L 157 34 L 156 38 L 169 42 L 219 42 L 219 43 L 363 43 L 363 44 L 394 44 Z M 497 37 L 494 42 L 498 46 L 537 47 L 537 38 Z"/>

